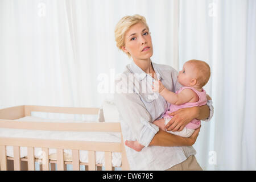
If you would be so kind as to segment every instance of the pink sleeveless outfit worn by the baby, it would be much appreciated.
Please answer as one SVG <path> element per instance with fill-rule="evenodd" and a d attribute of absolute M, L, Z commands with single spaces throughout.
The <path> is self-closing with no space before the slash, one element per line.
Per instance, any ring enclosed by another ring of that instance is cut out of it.
<path fill-rule="evenodd" d="M 172 116 L 169 115 L 168 113 L 172 113 L 172 112 L 174 112 L 176 110 L 179 110 L 181 108 L 203 106 L 203 105 L 207 104 L 207 96 L 206 96 L 206 92 L 205 92 L 204 89 L 202 89 L 202 91 L 199 92 L 193 87 L 183 86 L 179 90 L 177 90 L 176 94 L 180 93 L 183 89 L 192 89 L 198 95 L 199 101 L 197 101 L 197 102 L 187 102 L 187 103 L 181 104 L 181 105 L 171 104 L 170 109 L 167 110 L 166 113 L 164 113 L 163 118 L 172 118 Z M 195 129 L 199 128 L 200 125 L 201 125 L 200 120 L 193 119 L 185 127 L 187 127 L 188 129 L 194 129 L 195 130 Z"/>

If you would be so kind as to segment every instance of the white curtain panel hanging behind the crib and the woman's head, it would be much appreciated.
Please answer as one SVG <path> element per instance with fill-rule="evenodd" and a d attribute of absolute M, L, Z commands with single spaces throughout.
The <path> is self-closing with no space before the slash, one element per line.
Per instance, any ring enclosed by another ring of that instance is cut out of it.
<path fill-rule="evenodd" d="M 131 61 L 114 40 L 115 24 L 125 15 L 146 17 L 153 60 L 177 68 L 177 5 L 168 0 L 1 0 L 0 107 L 100 107 L 112 98 L 114 75 Z M 99 93 L 102 75 L 109 88 Z"/>

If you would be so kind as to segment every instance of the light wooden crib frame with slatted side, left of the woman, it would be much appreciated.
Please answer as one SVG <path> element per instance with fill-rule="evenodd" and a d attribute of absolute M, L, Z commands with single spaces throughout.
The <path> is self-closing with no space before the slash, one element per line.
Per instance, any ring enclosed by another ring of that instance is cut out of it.
<path fill-rule="evenodd" d="M 8 107 L 0 110 L 0 128 L 8 129 L 26 129 L 26 130 L 52 130 L 52 131 L 98 131 L 98 132 L 119 132 L 121 133 L 121 143 L 115 142 L 89 142 L 89 141 L 71 141 L 71 140 L 48 140 L 33 138 L 11 138 L 0 137 L 0 169 L 6 170 L 29 170 L 35 171 L 35 162 L 40 164 L 40 170 L 48 171 L 49 164 L 51 170 L 63 171 L 67 169 L 66 164 L 72 164 L 73 170 L 79 171 L 80 165 L 84 165 L 89 171 L 102 169 L 102 164 L 96 164 L 96 151 L 105 152 L 105 170 L 112 171 L 112 152 L 121 152 L 121 168 L 129 170 L 125 146 L 123 144 L 120 123 L 55 123 L 55 122 L 19 122 L 13 119 L 30 116 L 31 111 L 47 113 L 66 113 L 66 114 L 98 114 L 99 108 L 88 107 L 52 107 L 52 106 L 34 106 L 22 105 Z M 13 146 L 14 157 L 6 155 L 6 146 Z M 27 147 L 27 157 L 20 158 L 20 147 Z M 45 152 L 44 162 L 42 159 L 35 159 L 34 148 L 40 147 Z M 50 160 L 48 149 L 56 148 L 57 159 Z M 72 162 L 64 161 L 63 150 L 72 150 Z M 79 160 L 79 150 L 88 151 L 88 163 L 81 163 Z M 13 163 L 13 167 L 12 164 Z"/>

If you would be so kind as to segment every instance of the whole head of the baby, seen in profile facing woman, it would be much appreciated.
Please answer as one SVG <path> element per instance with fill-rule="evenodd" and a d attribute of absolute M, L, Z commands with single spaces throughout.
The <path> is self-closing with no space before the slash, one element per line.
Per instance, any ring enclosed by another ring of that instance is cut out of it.
<path fill-rule="evenodd" d="M 183 86 L 203 88 L 210 78 L 210 67 L 200 60 L 189 60 L 183 65 L 177 80 Z"/>

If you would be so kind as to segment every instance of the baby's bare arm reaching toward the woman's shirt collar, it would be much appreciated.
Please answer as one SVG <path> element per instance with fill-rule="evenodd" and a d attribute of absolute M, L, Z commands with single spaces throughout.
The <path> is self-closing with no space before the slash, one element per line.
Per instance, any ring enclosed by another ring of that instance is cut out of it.
<path fill-rule="evenodd" d="M 159 81 L 159 85 L 158 82 L 155 82 L 154 86 L 152 87 L 152 89 L 159 92 L 159 94 L 163 96 L 167 102 L 175 105 L 184 104 L 191 101 L 195 97 L 195 92 L 193 92 L 191 89 L 184 89 L 179 94 L 171 92 L 163 86 L 161 81 Z"/>

